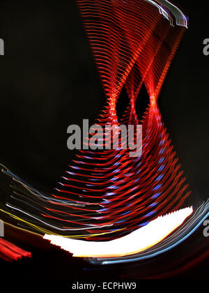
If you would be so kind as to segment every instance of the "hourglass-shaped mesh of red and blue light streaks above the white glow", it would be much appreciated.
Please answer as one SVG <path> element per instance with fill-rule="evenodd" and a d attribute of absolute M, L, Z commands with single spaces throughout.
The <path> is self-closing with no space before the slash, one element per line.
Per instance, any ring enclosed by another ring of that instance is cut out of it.
<path fill-rule="evenodd" d="M 121 148 L 79 151 L 49 196 L 3 167 L 13 177 L 15 191 L 6 211 L 1 211 L 41 234 L 109 241 L 177 211 L 190 194 L 157 105 L 188 23 L 165 0 L 77 3 L 107 101 L 96 122 L 116 128 L 140 123 L 142 154 L 131 158 L 130 150 Z M 143 117 L 138 117 L 142 87 L 149 103 Z M 120 121 L 116 107 L 124 89 L 129 105 Z M 103 145 L 102 137 L 101 141 Z"/>

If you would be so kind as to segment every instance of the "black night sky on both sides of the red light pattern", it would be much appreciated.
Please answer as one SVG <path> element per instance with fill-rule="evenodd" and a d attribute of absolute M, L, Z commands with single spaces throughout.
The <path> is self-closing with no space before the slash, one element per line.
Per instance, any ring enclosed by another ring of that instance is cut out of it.
<path fill-rule="evenodd" d="M 160 109 L 197 201 L 208 198 L 206 0 L 178 1 L 190 26 L 173 60 Z M 70 124 L 93 123 L 104 103 L 75 1 L 1 1 L 0 160 L 33 186 L 55 186 L 73 152 Z M 200 201 L 201 202 L 201 201 Z"/>

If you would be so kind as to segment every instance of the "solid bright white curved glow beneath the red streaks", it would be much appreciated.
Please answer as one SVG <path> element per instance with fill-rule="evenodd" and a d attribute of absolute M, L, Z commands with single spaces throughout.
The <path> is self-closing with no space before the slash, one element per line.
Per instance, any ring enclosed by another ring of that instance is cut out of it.
<path fill-rule="evenodd" d="M 192 207 L 180 209 L 166 216 L 158 217 L 148 225 L 127 236 L 106 242 L 90 242 L 47 234 L 45 234 L 44 239 L 48 239 L 56 246 L 61 246 L 64 250 L 72 253 L 74 257 L 121 257 L 133 255 L 162 241 L 182 225 L 192 212 Z"/>

